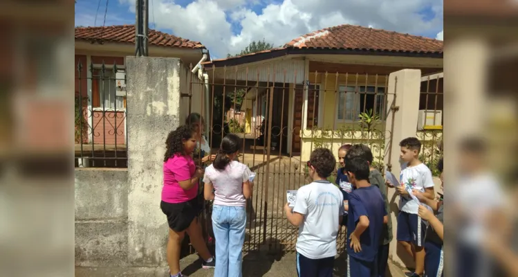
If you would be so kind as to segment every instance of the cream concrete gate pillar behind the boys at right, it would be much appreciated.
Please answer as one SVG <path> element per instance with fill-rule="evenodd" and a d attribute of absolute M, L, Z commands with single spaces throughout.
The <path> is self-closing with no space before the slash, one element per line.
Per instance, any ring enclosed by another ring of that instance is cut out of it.
<path fill-rule="evenodd" d="M 389 75 L 387 107 L 389 109 L 395 107 L 395 109 L 392 109 L 389 113 L 385 126 L 387 131 L 385 165 L 390 165 L 391 172 L 398 178 L 401 171 L 399 142 L 409 136 L 416 136 L 420 82 L 421 72 L 417 69 L 403 69 Z M 394 188 L 389 188 L 387 196 L 391 206 L 392 233 L 394 234 L 394 239 L 390 244 L 389 256 L 400 265 L 414 267 L 414 260 L 405 253 L 403 247 L 399 247 L 397 244 L 396 231 L 398 225 L 396 216 L 398 215 L 399 197 L 395 193 Z"/>

